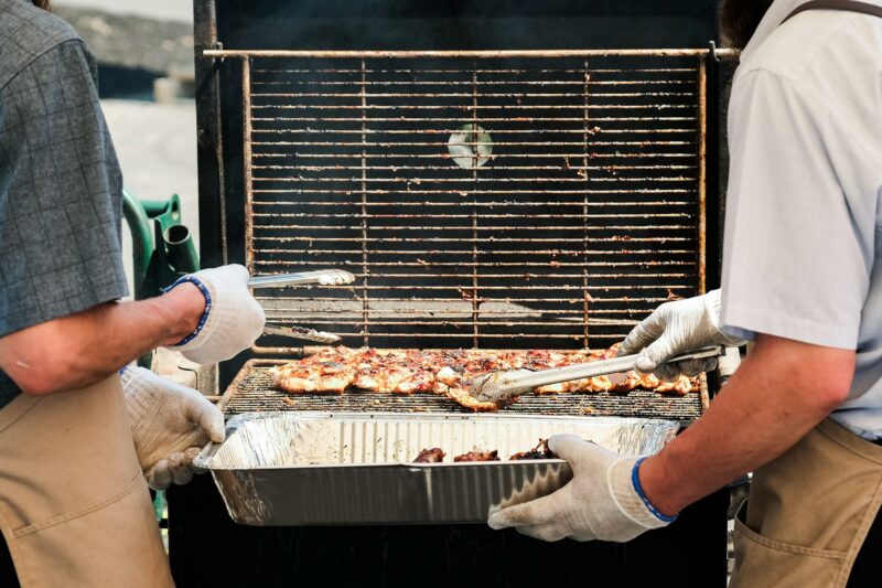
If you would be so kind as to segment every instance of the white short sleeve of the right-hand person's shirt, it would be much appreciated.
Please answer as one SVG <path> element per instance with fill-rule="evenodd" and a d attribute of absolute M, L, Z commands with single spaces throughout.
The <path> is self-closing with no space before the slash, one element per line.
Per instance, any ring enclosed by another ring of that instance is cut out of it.
<path fill-rule="evenodd" d="M 879 162 L 810 89 L 764 70 L 736 81 L 729 116 L 721 328 L 856 349 L 876 216 L 860 178 Z"/>

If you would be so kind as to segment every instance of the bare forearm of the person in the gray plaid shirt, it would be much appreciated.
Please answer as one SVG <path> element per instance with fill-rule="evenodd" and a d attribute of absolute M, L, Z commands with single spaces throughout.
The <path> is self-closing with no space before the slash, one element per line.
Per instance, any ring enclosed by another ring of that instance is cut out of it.
<path fill-rule="evenodd" d="M 204 307 L 186 284 L 150 300 L 99 304 L 0 339 L 0 368 L 34 394 L 88 386 L 186 336 Z"/>

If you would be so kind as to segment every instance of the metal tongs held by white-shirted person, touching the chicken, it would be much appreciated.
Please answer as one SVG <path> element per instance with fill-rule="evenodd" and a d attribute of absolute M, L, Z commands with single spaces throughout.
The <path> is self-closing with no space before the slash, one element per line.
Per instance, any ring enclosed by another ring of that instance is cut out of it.
<path fill-rule="evenodd" d="M 691 353 L 684 353 L 668 360 L 671 363 L 688 360 L 699 360 L 703 357 L 717 357 L 724 353 L 724 348 L 706 348 Z M 639 355 L 622 355 L 612 360 L 599 362 L 580 363 L 566 367 L 555 367 L 552 370 L 514 370 L 509 372 L 493 372 L 476 377 L 469 387 L 469 394 L 481 402 L 507 402 L 525 392 L 529 392 L 538 386 L 548 384 L 559 384 L 571 379 L 584 377 L 604 376 L 619 374 L 637 367 Z"/>

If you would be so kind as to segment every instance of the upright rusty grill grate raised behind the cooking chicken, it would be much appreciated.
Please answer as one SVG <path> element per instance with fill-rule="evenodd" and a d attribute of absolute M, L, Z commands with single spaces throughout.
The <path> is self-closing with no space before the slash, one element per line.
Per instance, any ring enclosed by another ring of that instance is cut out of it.
<path fill-rule="evenodd" d="M 358 277 L 258 292 L 275 323 L 602 348 L 703 290 L 704 52 L 220 53 L 243 63 L 249 269 Z"/>

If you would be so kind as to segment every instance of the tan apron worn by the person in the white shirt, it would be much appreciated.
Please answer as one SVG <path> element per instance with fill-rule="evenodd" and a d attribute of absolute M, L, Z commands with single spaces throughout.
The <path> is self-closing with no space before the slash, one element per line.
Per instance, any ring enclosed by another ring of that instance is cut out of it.
<path fill-rule="evenodd" d="M 880 505 L 882 447 L 828 418 L 754 473 L 730 588 L 846 586 Z"/>

